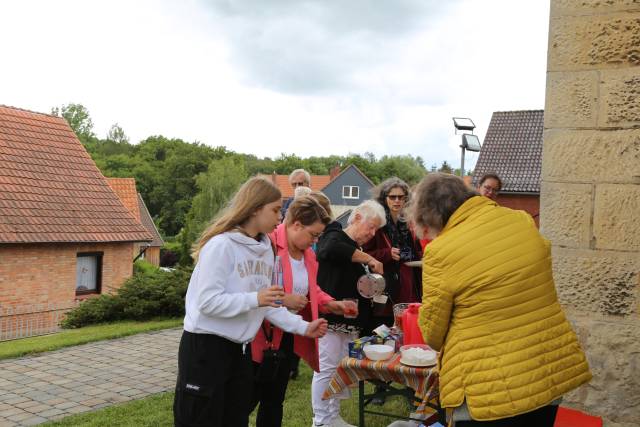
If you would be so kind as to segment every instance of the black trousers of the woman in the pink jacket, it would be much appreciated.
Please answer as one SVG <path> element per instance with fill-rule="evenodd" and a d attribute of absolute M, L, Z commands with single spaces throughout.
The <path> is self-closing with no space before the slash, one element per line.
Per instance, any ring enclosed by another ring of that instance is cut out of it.
<path fill-rule="evenodd" d="M 256 427 L 280 427 L 282 425 L 282 405 L 289 384 L 289 373 L 293 362 L 293 335 L 284 333 L 280 342 L 280 350 L 287 358 L 280 363 L 278 372 L 273 381 L 256 381 L 253 385 L 253 397 L 251 399 L 251 411 L 258 403 Z M 254 368 L 260 368 L 260 364 L 254 363 Z"/>

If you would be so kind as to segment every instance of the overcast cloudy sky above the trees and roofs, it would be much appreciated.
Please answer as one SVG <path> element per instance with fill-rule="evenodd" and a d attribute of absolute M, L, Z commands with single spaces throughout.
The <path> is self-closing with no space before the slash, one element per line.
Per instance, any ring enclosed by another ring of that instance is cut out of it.
<path fill-rule="evenodd" d="M 451 118 L 544 107 L 547 0 L 0 2 L 0 104 L 104 137 L 459 167 Z M 476 154 L 467 156 L 473 167 Z"/>

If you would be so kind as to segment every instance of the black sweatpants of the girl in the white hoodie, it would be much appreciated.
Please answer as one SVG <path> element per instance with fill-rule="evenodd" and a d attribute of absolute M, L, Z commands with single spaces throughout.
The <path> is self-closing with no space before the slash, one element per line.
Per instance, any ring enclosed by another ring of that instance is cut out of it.
<path fill-rule="evenodd" d="M 173 401 L 176 427 L 247 427 L 253 388 L 251 346 L 184 331 Z"/>

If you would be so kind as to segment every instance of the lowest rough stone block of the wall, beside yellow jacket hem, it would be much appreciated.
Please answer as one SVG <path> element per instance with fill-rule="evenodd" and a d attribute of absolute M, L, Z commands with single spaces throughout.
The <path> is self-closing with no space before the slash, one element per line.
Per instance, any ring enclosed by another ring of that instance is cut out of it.
<path fill-rule="evenodd" d="M 606 426 L 640 425 L 640 321 L 569 314 L 593 379 L 564 396 L 562 405 L 602 416 Z"/>

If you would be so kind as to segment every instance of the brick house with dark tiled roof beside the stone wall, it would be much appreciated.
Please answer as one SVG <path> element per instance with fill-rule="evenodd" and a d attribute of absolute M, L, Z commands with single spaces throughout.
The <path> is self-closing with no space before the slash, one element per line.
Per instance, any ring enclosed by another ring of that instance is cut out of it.
<path fill-rule="evenodd" d="M 498 203 L 529 212 L 540 224 L 543 110 L 497 111 L 491 122 L 473 172 L 477 187 L 485 173 L 502 180 Z"/>

